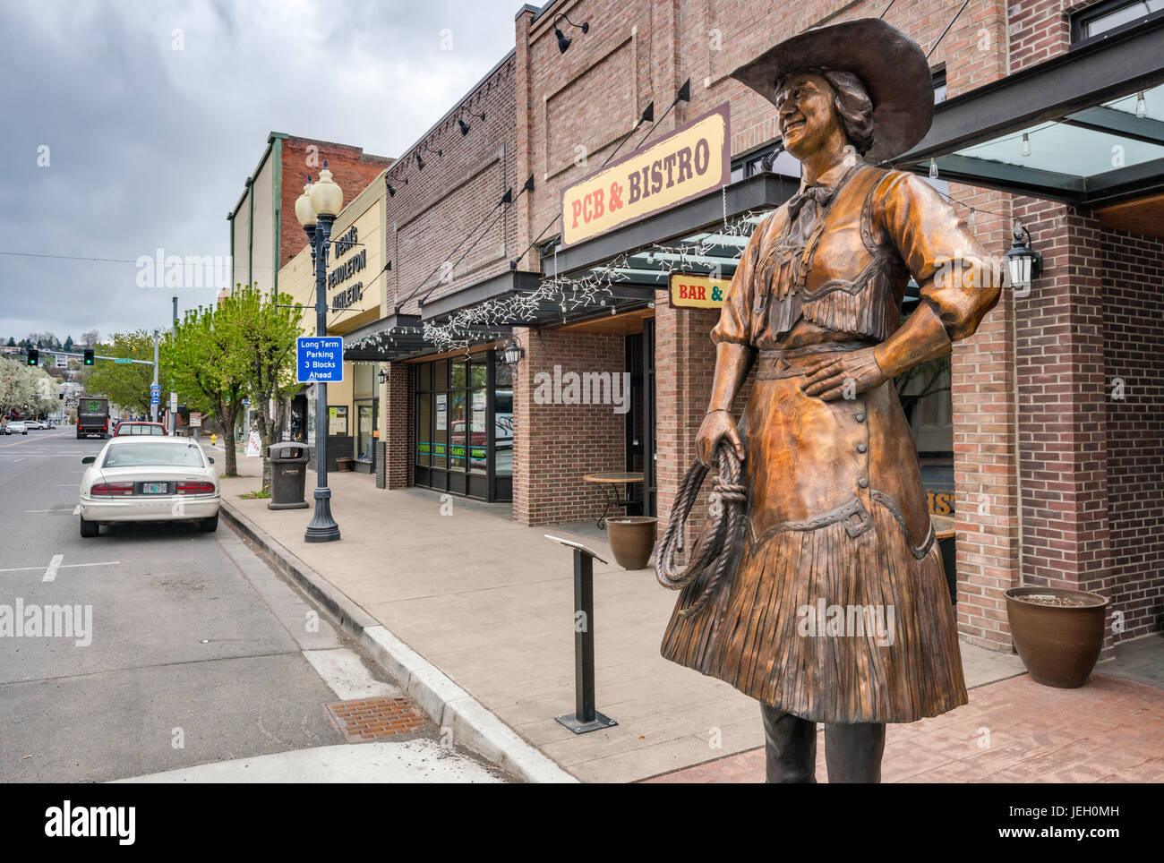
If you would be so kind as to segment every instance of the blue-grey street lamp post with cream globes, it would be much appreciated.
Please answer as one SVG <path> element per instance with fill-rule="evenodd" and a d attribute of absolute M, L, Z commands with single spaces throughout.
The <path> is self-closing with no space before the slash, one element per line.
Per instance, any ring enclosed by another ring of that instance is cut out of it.
<path fill-rule="evenodd" d="M 327 243 L 332 223 L 343 207 L 343 191 L 332 180 L 324 163 L 319 179 L 307 178 L 303 194 L 294 202 L 294 214 L 307 234 L 311 262 L 315 268 L 315 335 L 327 335 Z M 332 490 L 327 487 L 327 384 L 315 381 L 315 513 L 304 534 L 306 542 L 340 539 L 340 526 L 332 518 Z"/>

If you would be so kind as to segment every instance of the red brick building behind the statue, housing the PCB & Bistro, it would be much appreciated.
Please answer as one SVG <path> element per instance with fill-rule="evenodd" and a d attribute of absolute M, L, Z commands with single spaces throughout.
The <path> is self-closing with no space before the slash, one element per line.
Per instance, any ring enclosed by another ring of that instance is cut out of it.
<path fill-rule="evenodd" d="M 524 7 L 514 50 L 388 172 L 396 300 L 347 338 L 353 358 L 385 364 L 381 484 L 511 499 L 537 525 L 604 511 L 584 475 L 640 472 L 620 492 L 665 521 L 695 456 L 718 316 L 674 307 L 666 277 L 730 277 L 799 184 L 772 105 L 731 72 L 781 35 L 882 14 L 930 52 L 941 102 L 895 164 L 936 171 L 992 254 L 1017 219 L 1043 259 L 954 345 L 949 391 L 914 416 L 956 512 L 963 636 L 1009 649 L 1002 591 L 1018 584 L 1109 594 L 1109 643 L 1159 630 L 1164 17 L 1144 3 Z M 728 181 L 562 241 L 563 192 L 721 106 Z M 503 365 L 510 340 L 524 356 Z M 560 398 L 569 372 L 625 373 L 626 409 Z"/>

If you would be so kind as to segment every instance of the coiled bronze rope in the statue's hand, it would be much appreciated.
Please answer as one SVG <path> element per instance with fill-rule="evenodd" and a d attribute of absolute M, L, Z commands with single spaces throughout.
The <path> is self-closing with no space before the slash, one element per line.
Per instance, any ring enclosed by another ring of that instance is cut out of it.
<path fill-rule="evenodd" d="M 716 447 L 716 468 L 718 472 L 711 478 L 708 521 L 695 542 L 691 559 L 686 566 L 675 565 L 675 554 L 683 551 L 687 516 L 708 475 L 707 465 L 701 462 L 688 468 L 670 508 L 667 530 L 655 552 L 655 577 L 663 587 L 677 591 L 697 579 L 703 585 L 695 601 L 680 609 L 681 618 L 689 618 L 707 605 L 743 548 L 747 492 L 739 456 L 728 441 L 721 441 Z"/>

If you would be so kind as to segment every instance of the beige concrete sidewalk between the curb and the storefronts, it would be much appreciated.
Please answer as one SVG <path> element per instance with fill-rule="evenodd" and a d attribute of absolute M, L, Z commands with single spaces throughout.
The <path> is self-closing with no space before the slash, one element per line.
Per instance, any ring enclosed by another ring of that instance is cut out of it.
<path fill-rule="evenodd" d="M 545 534 L 580 540 L 612 561 L 592 525 L 526 528 L 508 506 L 384 491 L 371 476 L 332 473 L 342 540 L 308 544 L 312 511 L 243 500 L 261 465 L 240 458 L 239 468 L 253 476 L 223 479 L 223 504 L 274 552 L 315 570 L 579 779 L 634 782 L 762 744 L 752 699 L 659 655 L 675 594 L 651 570 L 597 562 L 597 707 L 618 726 L 574 735 L 554 720 L 574 709 L 574 584 L 570 552 Z M 971 686 L 1023 672 L 1016 656 L 966 644 L 963 656 Z"/>

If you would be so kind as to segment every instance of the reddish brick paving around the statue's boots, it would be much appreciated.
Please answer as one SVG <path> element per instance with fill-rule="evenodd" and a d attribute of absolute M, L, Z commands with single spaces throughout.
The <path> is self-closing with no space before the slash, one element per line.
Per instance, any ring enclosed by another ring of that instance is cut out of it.
<path fill-rule="evenodd" d="M 828 782 L 823 734 L 816 776 Z M 964 707 L 889 726 L 882 780 L 1164 782 L 1164 690 L 1100 673 L 1078 690 L 1042 686 L 1029 675 L 981 686 Z M 764 782 L 764 749 L 646 782 Z"/>

